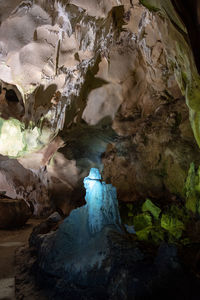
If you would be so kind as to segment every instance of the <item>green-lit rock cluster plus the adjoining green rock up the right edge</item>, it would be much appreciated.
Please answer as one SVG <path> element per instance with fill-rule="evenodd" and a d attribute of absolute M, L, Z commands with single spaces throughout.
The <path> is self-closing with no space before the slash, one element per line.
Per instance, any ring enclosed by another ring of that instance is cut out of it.
<path fill-rule="evenodd" d="M 190 245 L 193 239 L 191 224 L 195 226 L 200 215 L 200 166 L 190 164 L 188 176 L 184 186 L 185 205 L 171 203 L 163 209 L 155 205 L 152 200 L 146 199 L 135 209 L 133 204 L 129 208 L 129 220 L 136 232 L 138 240 L 159 245 L 163 240 L 168 243 Z M 132 214 L 134 215 L 132 217 Z"/>

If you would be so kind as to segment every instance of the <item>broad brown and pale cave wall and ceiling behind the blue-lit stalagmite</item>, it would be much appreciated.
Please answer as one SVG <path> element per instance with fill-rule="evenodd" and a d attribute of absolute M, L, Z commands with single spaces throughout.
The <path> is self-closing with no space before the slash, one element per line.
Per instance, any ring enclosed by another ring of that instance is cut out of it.
<path fill-rule="evenodd" d="M 184 198 L 189 165 L 200 160 L 199 75 L 172 3 L 4 6 L 0 80 L 17 91 L 24 113 L 17 123 L 1 115 L 1 154 L 36 174 L 45 168 L 49 201 L 67 213 L 83 199 L 91 167 L 120 201 Z"/>

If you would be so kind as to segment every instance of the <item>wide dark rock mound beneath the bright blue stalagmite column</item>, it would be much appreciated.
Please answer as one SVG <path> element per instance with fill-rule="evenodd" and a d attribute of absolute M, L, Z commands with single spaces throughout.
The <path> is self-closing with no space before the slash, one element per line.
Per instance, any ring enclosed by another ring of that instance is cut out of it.
<path fill-rule="evenodd" d="M 84 208 L 79 212 L 84 213 Z M 79 221 L 74 219 L 74 230 Z M 112 226 L 93 235 L 86 245 L 77 236 L 68 239 L 69 231 L 63 227 L 69 227 L 64 222 L 57 232 L 36 234 L 32 247 L 17 253 L 17 296 L 120 300 L 195 299 L 198 295 L 199 282 L 181 266 L 175 246 L 140 249 L 134 238 L 119 234 Z M 74 242 L 78 248 L 69 248 Z M 93 264 L 95 257 L 97 264 Z"/>

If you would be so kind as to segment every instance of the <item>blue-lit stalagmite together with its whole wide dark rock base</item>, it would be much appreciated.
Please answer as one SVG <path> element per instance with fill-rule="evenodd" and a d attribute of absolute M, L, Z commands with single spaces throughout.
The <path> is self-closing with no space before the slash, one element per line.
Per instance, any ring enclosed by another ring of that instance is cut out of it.
<path fill-rule="evenodd" d="M 17 295 L 28 299 L 41 289 L 41 299 L 55 300 L 193 299 L 198 280 L 182 267 L 177 248 L 162 243 L 146 249 L 127 234 L 116 191 L 101 182 L 97 169 L 91 169 L 84 186 L 86 205 L 73 210 L 57 230 L 60 216 L 50 216 L 34 229 L 31 248 L 18 253 Z"/>

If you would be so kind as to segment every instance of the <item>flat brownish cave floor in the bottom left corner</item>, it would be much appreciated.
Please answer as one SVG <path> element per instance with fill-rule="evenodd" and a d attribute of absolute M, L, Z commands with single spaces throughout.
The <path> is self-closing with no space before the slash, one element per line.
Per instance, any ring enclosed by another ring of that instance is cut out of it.
<path fill-rule="evenodd" d="M 30 219 L 20 229 L 0 230 L 0 300 L 15 299 L 15 251 L 28 243 L 40 219 Z"/>

